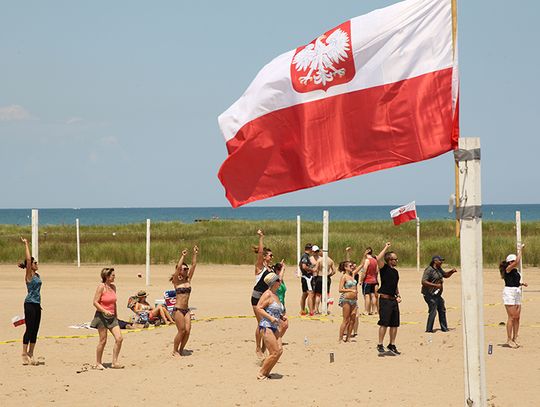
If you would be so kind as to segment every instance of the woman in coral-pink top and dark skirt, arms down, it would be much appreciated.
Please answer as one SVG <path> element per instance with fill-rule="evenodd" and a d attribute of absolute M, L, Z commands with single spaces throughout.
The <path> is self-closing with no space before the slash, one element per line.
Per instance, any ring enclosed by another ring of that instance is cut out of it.
<path fill-rule="evenodd" d="M 96 364 L 94 369 L 103 370 L 102 363 L 103 350 L 107 344 L 107 330 L 114 336 L 113 360 L 111 367 L 113 369 L 123 369 L 124 366 L 118 363 L 118 355 L 122 348 L 122 333 L 118 325 L 116 309 L 116 286 L 114 279 L 116 275 L 114 268 L 107 267 L 101 270 L 101 284 L 98 285 L 94 294 L 94 307 L 96 313 L 90 323 L 92 328 L 98 330 L 99 342 L 96 349 Z"/>

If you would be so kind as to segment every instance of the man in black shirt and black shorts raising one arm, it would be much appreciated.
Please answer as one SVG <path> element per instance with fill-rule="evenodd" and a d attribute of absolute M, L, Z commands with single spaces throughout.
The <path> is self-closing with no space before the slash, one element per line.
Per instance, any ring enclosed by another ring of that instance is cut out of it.
<path fill-rule="evenodd" d="M 399 303 L 401 302 L 398 288 L 399 273 L 396 269 L 398 257 L 396 253 L 388 251 L 389 248 L 390 242 L 386 243 L 384 249 L 377 256 L 379 275 L 381 276 L 381 287 L 379 288 L 379 343 L 377 345 L 379 356 L 396 356 L 401 353 L 397 350 L 395 344 L 399 327 Z M 390 342 L 387 347 L 388 351 L 386 351 L 383 341 L 388 328 L 390 328 Z"/>

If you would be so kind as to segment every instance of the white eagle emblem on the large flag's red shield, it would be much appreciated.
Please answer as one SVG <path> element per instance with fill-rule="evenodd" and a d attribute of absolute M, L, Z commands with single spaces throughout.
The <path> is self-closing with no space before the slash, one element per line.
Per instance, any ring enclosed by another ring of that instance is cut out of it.
<path fill-rule="evenodd" d="M 298 72 L 308 70 L 307 75 L 299 78 L 300 83 L 307 85 L 313 81 L 315 85 L 321 84 L 324 87 L 335 76 L 345 76 L 346 68 L 336 69 L 334 65 L 348 58 L 349 41 L 349 35 L 338 28 L 328 36 L 321 35 L 315 43 L 308 44 L 298 52 L 292 63 Z"/>

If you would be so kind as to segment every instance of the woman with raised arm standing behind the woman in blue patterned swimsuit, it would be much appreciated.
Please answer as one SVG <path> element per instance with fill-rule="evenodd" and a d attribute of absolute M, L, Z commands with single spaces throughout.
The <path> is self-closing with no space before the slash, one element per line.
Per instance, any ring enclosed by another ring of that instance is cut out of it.
<path fill-rule="evenodd" d="M 253 247 L 253 251 L 257 254 L 257 261 L 255 262 L 255 285 L 251 292 L 251 307 L 255 318 L 257 319 L 257 328 L 255 329 L 255 353 L 259 358 L 264 357 L 264 343 L 263 335 L 259 330 L 259 314 L 257 313 L 257 304 L 263 293 L 268 290 L 268 286 L 264 282 L 264 278 L 272 272 L 272 259 L 274 254 L 268 247 L 264 247 L 264 233 L 262 230 L 257 230 L 259 236 L 259 245 Z"/>

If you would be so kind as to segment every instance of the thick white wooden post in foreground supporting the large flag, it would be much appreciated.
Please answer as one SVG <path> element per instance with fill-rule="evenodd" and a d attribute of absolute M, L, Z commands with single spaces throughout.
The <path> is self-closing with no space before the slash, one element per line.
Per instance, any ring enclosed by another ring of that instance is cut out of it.
<path fill-rule="evenodd" d="M 480 139 L 460 138 L 454 155 L 463 188 L 462 205 L 456 211 L 461 236 L 464 401 L 468 407 L 486 406 Z"/>

